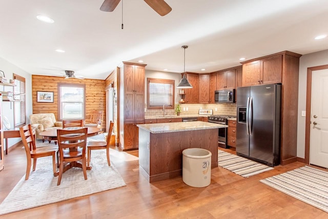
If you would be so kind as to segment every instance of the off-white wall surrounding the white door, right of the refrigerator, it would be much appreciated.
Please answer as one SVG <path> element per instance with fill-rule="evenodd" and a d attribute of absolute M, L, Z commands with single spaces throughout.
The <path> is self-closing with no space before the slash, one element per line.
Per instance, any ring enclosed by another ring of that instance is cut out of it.
<path fill-rule="evenodd" d="M 297 156 L 305 157 L 305 117 L 301 116 L 306 109 L 306 75 L 309 67 L 328 65 L 328 50 L 302 55 L 299 63 L 298 84 L 298 119 L 297 119 Z"/>

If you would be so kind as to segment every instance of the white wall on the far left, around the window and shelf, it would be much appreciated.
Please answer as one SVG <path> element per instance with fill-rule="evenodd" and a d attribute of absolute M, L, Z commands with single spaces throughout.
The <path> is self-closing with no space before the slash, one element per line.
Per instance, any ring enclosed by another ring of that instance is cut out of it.
<path fill-rule="evenodd" d="M 29 115 L 32 114 L 32 75 L 28 72 L 20 69 L 19 67 L 11 64 L 5 59 L 0 57 L 0 70 L 5 73 L 5 77 L 7 79 L 13 79 L 13 73 L 18 74 L 19 76 L 25 77 L 26 83 L 26 124 L 30 123 Z M 0 90 L 2 91 L 13 91 L 12 87 L 3 87 L 0 86 Z M 2 111 L 3 115 L 6 116 L 10 122 L 10 127 L 14 127 L 14 111 L 13 111 L 13 103 L 11 102 L 3 102 Z M 20 138 L 9 138 L 8 139 L 9 147 L 16 144 L 20 141 Z"/>

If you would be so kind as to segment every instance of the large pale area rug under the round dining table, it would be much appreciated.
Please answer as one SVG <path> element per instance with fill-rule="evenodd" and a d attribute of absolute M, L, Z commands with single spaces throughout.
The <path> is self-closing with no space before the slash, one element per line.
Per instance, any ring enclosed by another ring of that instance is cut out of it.
<path fill-rule="evenodd" d="M 38 158 L 29 179 L 25 181 L 24 175 L 0 204 L 0 215 L 126 186 L 114 165 L 108 166 L 105 150 L 92 151 L 90 165 L 87 180 L 80 168 L 72 168 L 63 174 L 57 186 L 51 157 Z"/>

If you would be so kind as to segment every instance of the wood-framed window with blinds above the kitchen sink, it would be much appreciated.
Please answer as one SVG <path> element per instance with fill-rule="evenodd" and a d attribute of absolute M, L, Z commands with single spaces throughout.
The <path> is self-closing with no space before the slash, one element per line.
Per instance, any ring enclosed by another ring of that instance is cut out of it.
<path fill-rule="evenodd" d="M 174 80 L 147 78 L 147 108 L 174 109 Z"/>

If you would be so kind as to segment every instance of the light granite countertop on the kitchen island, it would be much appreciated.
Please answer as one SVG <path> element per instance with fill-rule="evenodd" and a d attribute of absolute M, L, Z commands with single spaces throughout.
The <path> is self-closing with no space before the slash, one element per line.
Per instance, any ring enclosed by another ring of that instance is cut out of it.
<path fill-rule="evenodd" d="M 155 124 L 139 124 L 140 129 L 149 131 L 150 133 L 165 133 L 165 132 L 179 132 L 179 131 L 193 131 L 202 129 L 217 129 L 226 128 L 227 125 L 207 122 L 186 122 L 186 123 L 155 123 Z"/>

